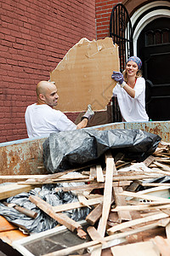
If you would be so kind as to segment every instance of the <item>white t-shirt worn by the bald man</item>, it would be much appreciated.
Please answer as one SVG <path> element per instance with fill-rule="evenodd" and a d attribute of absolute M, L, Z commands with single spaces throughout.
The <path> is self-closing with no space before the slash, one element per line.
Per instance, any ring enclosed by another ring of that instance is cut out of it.
<path fill-rule="evenodd" d="M 77 129 L 65 113 L 36 103 L 28 106 L 25 113 L 28 137 L 48 136 L 56 131 L 72 131 Z"/>

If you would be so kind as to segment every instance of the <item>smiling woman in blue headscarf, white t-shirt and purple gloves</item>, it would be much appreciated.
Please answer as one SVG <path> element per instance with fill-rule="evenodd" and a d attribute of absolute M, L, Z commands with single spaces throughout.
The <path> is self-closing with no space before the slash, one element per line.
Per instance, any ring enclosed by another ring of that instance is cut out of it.
<path fill-rule="evenodd" d="M 117 84 L 113 89 L 113 96 L 117 96 L 122 120 L 126 122 L 148 121 L 145 111 L 145 80 L 142 78 L 140 68 L 142 61 L 139 57 L 128 58 L 123 73 L 113 72 L 112 79 Z"/>

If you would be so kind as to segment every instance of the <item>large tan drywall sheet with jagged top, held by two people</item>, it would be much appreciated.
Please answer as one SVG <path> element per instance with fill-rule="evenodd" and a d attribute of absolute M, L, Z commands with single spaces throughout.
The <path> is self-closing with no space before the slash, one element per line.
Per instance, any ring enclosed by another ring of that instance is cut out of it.
<path fill-rule="evenodd" d="M 116 85 L 111 74 L 119 67 L 118 46 L 112 38 L 82 38 L 50 73 L 59 93 L 57 109 L 81 112 L 91 104 L 94 110 L 105 110 Z"/>

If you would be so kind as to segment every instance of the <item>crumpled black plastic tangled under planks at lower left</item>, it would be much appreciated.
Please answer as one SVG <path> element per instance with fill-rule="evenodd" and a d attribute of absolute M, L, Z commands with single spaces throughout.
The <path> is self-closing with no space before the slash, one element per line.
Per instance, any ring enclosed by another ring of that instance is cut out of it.
<path fill-rule="evenodd" d="M 3 185 L 3 184 L 2 184 Z M 30 195 L 37 195 L 42 200 L 47 201 L 53 207 L 78 201 L 77 195 L 69 192 L 63 192 L 63 186 L 77 186 L 81 183 L 62 183 L 62 184 L 47 184 L 43 185 L 42 188 L 32 189 L 29 193 L 20 193 L 19 195 L 14 195 L 9 197 L 6 202 L 14 203 L 20 207 L 26 207 L 34 212 L 37 212 L 36 218 L 27 217 L 25 214 L 18 212 L 14 207 L 6 207 L 3 201 L 0 201 L 0 215 L 3 215 L 9 222 L 20 227 L 26 233 L 39 233 L 45 230 L 50 230 L 54 228 L 58 222 L 51 218 L 45 212 L 42 212 L 38 207 L 36 207 L 31 201 L 29 201 Z M 59 192 L 55 192 L 56 187 L 61 187 Z M 88 207 L 75 208 L 72 210 L 65 211 L 65 214 L 79 221 L 85 219 L 89 213 Z"/>

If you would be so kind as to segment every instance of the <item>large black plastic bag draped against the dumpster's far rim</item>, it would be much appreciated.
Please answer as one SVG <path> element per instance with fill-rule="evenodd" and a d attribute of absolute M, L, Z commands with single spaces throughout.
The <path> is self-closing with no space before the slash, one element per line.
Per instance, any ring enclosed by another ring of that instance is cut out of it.
<path fill-rule="evenodd" d="M 61 131 L 50 134 L 43 143 L 44 166 L 48 172 L 63 172 L 99 159 L 109 148 L 133 155 L 152 154 L 160 141 L 161 137 L 141 130 Z"/>

